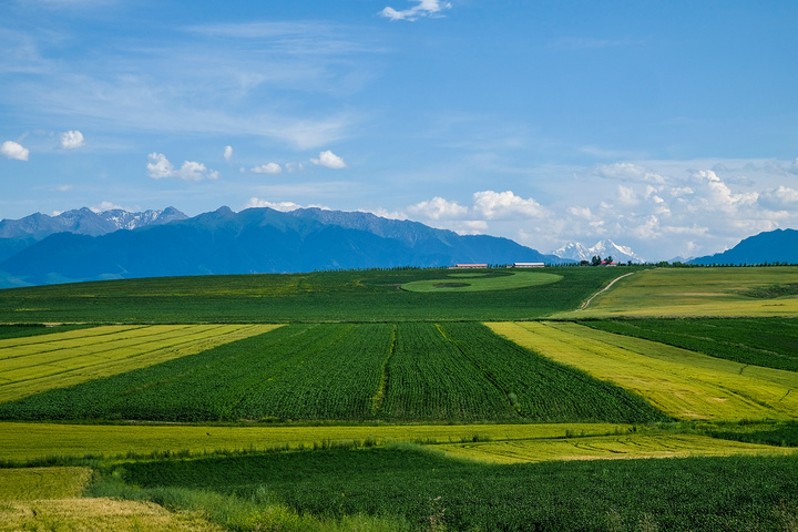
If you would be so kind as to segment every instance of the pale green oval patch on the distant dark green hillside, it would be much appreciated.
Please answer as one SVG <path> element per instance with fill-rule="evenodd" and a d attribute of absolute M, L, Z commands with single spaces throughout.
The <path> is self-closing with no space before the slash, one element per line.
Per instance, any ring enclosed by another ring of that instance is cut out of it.
<path fill-rule="evenodd" d="M 439 279 L 413 280 L 405 283 L 402 290 L 408 291 L 492 291 L 512 290 L 530 286 L 548 285 L 563 278 L 557 274 L 514 272 L 503 275 L 487 275 L 484 273 L 449 274 Z"/>

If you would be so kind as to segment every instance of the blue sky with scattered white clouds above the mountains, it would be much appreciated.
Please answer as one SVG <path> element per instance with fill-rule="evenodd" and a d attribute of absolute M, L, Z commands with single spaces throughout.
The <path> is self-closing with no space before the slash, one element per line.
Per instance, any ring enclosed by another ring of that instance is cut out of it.
<path fill-rule="evenodd" d="M 321 206 L 652 260 L 798 227 L 798 2 L 0 11 L 0 218 Z"/>

